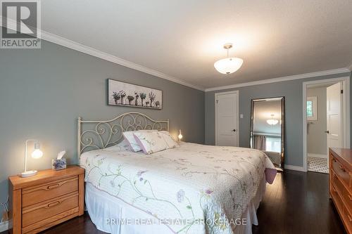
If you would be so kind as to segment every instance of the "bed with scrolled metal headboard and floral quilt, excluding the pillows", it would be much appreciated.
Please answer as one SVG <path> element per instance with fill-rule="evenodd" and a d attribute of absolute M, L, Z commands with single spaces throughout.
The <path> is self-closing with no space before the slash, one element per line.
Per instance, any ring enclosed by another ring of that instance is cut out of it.
<path fill-rule="evenodd" d="M 108 121 L 78 119 L 85 203 L 107 233 L 251 233 L 276 169 L 260 150 L 180 143 L 144 155 L 110 147 L 122 132 L 169 130 L 169 120 L 139 113 Z"/>

